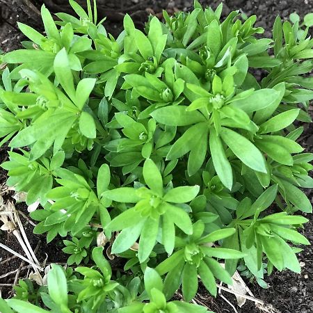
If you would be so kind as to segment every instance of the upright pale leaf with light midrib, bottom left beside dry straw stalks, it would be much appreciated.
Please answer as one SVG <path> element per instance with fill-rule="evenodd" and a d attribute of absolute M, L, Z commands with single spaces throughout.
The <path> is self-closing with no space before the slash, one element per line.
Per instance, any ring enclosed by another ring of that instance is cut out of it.
<path fill-rule="evenodd" d="M 55 303 L 67 306 L 67 281 L 61 266 L 51 264 L 51 271 L 48 273 L 48 289 L 49 296 Z"/>

